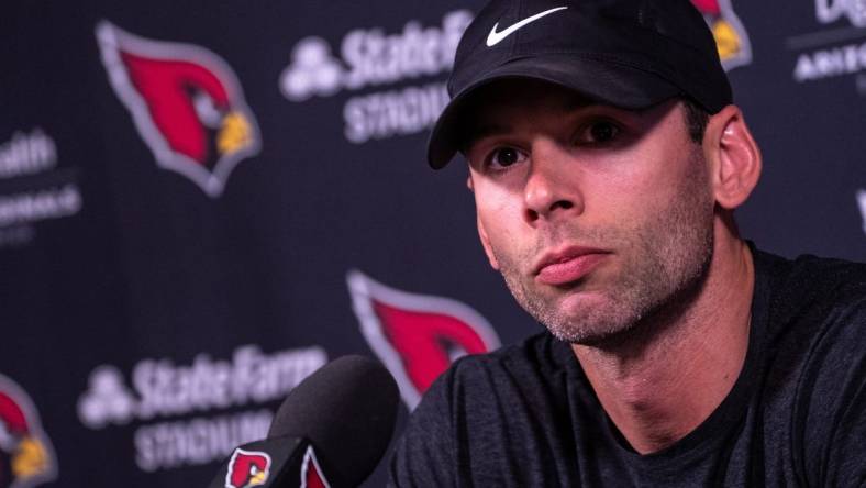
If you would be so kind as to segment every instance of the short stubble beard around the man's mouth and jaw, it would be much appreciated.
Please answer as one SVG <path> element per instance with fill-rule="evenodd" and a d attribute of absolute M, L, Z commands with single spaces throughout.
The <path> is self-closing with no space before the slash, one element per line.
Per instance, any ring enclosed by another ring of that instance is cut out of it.
<path fill-rule="evenodd" d="M 654 219 L 625 229 L 571 231 L 570 235 L 559 231 L 570 242 L 611 246 L 617 249 L 614 258 L 623 259 L 619 274 L 600 290 L 600 302 L 566 312 L 557 306 L 562 292 L 544 290 L 534 277 L 520 273 L 536 252 L 510 258 L 493 249 L 518 303 L 560 341 L 584 345 L 620 340 L 666 309 L 681 308 L 681 301 L 690 300 L 706 280 L 713 252 L 713 201 L 701 190 L 707 169 L 702 158 L 692 159 L 677 191 L 682 198 L 655 212 Z M 568 292 L 579 292 L 580 286 L 575 284 Z"/>

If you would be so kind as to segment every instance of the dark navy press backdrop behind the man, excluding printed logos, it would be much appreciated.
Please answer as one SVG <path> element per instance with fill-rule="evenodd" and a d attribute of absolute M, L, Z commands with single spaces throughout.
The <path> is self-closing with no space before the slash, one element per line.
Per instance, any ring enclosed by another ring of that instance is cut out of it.
<path fill-rule="evenodd" d="M 770 252 L 864 260 L 856 195 L 866 188 L 866 54 L 862 68 L 823 79 L 798 82 L 793 70 L 803 54 L 865 45 L 866 29 L 845 16 L 820 23 L 814 2 L 734 0 L 753 60 L 730 77 L 765 162 L 762 182 L 737 219 L 742 233 Z M 265 353 L 321 346 L 330 358 L 373 355 L 352 310 L 349 269 L 400 290 L 467 303 L 503 344 L 537 330 L 488 268 L 465 167 L 429 169 L 426 132 L 364 144 L 343 135 L 348 98 L 446 74 L 303 102 L 279 90 L 291 49 L 303 37 L 324 38 L 338 57 L 349 31 L 393 34 L 409 21 L 441 26 L 446 12 L 479 5 L 5 5 L 0 144 L 40 127 L 54 141 L 57 162 L 51 171 L 0 178 L 0 198 L 59 180 L 75 182 L 82 200 L 74 215 L 0 229 L 30 235 L 0 245 L 0 374 L 38 411 L 56 452 L 58 477 L 49 486 L 204 486 L 215 463 L 156 473 L 136 466 L 134 430 L 147 422 L 82 424 L 77 403 L 91 371 L 113 365 L 129 386 L 142 359 L 190 365 L 202 353 L 229 359 L 244 344 Z M 237 75 L 262 151 L 234 168 L 219 198 L 157 166 L 109 84 L 95 35 L 101 20 L 145 38 L 204 47 Z M 186 418 L 193 413 L 222 412 Z M 368 481 L 382 484 L 381 472 Z"/>

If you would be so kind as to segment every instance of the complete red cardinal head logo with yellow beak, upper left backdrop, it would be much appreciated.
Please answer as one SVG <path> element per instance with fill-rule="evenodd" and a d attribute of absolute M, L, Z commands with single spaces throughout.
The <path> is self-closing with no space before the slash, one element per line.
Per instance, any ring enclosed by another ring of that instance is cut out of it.
<path fill-rule="evenodd" d="M 258 153 L 260 135 L 229 65 L 202 47 L 97 25 L 114 92 L 159 166 L 219 197 L 229 174 Z"/>

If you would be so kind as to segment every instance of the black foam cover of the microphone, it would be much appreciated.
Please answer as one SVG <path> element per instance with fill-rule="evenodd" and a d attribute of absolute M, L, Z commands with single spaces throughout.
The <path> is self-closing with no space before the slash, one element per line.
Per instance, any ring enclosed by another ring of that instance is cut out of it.
<path fill-rule="evenodd" d="M 376 468 L 393 434 L 400 393 L 385 367 L 340 357 L 301 381 L 280 406 L 268 437 L 307 437 L 334 487 L 355 487 Z"/>

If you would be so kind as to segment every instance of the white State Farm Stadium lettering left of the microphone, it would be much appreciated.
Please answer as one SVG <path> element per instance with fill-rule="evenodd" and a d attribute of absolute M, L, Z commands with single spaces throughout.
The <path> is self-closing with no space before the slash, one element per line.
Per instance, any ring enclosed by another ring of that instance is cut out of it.
<path fill-rule="evenodd" d="M 133 424 L 135 463 L 145 472 L 212 463 L 264 439 L 274 413 L 262 403 L 286 397 L 326 362 L 318 346 L 265 354 L 244 345 L 231 359 L 142 359 L 131 387 L 121 369 L 101 365 L 78 400 L 78 418 L 92 430 Z"/>

